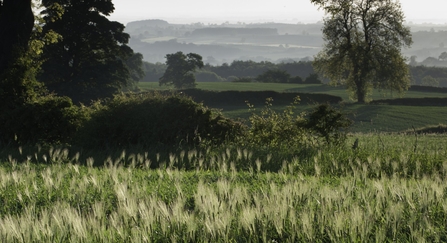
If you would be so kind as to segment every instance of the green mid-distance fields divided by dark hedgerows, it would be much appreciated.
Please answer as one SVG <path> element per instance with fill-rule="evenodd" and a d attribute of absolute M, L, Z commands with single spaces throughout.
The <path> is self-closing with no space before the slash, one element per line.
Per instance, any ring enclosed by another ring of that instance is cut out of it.
<path fill-rule="evenodd" d="M 139 83 L 142 90 L 163 90 L 157 82 Z M 447 109 L 444 106 L 397 106 L 397 105 L 358 105 L 352 104 L 349 95 L 344 87 L 334 87 L 319 84 L 271 84 L 271 83 L 233 83 L 233 82 L 199 82 L 198 89 L 211 91 L 275 91 L 275 92 L 296 92 L 296 93 L 321 93 L 339 96 L 343 99 L 342 109 L 355 121 L 352 132 L 402 132 L 414 128 L 439 125 L 447 123 Z M 447 98 L 447 93 L 441 92 L 421 92 L 407 91 L 405 98 Z M 268 97 L 265 97 L 268 98 Z M 372 99 L 393 99 L 399 98 L 397 94 L 385 94 L 377 90 L 374 91 Z M 228 97 L 231 99 L 231 97 Z M 292 100 L 290 101 L 292 102 Z M 206 104 L 206 100 L 204 101 Z M 247 119 L 250 111 L 247 104 L 241 102 L 240 105 L 213 104 L 213 108 L 222 110 L 222 113 L 233 119 Z M 297 111 L 312 109 L 313 104 L 303 104 L 297 106 Z M 256 106 L 256 109 L 262 109 Z M 285 105 L 275 106 L 273 109 L 283 110 Z"/>

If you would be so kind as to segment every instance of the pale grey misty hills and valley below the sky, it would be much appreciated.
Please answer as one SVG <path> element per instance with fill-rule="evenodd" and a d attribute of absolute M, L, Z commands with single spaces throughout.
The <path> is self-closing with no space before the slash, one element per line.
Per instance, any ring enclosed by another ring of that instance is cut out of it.
<path fill-rule="evenodd" d="M 402 50 L 413 64 L 447 66 L 439 59 L 447 51 L 447 24 L 413 24 L 413 45 Z M 322 48 L 322 22 L 317 23 L 245 23 L 201 22 L 178 24 L 165 20 L 141 20 L 127 23 L 129 45 L 151 63 L 165 62 L 169 53 L 182 51 L 201 55 L 205 63 L 221 65 L 234 60 L 274 63 L 312 60 Z"/>

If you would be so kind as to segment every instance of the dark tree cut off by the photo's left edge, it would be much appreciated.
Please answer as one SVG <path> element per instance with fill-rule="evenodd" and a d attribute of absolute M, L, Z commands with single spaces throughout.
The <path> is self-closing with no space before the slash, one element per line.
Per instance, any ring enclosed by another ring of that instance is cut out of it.
<path fill-rule="evenodd" d="M 0 110 L 5 117 L 7 110 L 36 97 L 39 86 L 31 6 L 31 0 L 0 0 Z"/>

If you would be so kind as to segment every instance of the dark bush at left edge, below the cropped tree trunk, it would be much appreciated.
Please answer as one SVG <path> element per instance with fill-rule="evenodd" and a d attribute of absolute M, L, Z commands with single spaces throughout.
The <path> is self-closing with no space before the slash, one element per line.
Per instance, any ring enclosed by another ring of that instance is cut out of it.
<path fill-rule="evenodd" d="M 89 115 L 88 108 L 73 105 L 68 97 L 39 97 L 2 113 L 1 139 L 18 144 L 70 143 Z"/>

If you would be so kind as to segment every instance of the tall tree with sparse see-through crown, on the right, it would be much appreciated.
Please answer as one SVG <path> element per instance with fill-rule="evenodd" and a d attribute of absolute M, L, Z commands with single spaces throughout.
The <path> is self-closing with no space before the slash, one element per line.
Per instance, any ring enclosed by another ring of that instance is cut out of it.
<path fill-rule="evenodd" d="M 314 67 L 346 84 L 364 103 L 374 88 L 403 92 L 409 72 L 401 49 L 412 44 L 398 0 L 311 0 L 323 9 L 323 50 Z"/>

